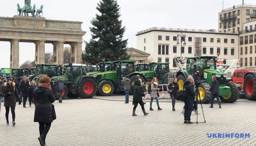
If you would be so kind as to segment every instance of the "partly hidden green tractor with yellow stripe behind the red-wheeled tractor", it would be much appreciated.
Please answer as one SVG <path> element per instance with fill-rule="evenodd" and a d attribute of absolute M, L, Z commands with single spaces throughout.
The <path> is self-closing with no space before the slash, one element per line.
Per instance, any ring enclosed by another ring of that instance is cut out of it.
<path fill-rule="evenodd" d="M 100 62 L 97 65 L 98 71 L 93 71 L 93 72 L 87 72 L 87 75 L 95 75 L 97 73 L 103 73 L 105 71 L 113 71 L 114 70 L 114 64 L 113 62 Z M 96 69 L 96 67 L 94 68 Z"/>

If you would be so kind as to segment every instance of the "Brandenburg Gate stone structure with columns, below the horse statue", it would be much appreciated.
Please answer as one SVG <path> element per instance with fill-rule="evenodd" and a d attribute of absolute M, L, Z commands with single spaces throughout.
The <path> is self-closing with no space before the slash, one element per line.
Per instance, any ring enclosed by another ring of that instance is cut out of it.
<path fill-rule="evenodd" d="M 53 44 L 53 62 L 63 64 L 64 44 L 71 46 L 71 62 L 82 59 L 82 22 L 15 15 L 0 17 L 0 41 L 11 43 L 10 68 L 19 67 L 19 43 L 35 43 L 35 64 L 45 62 L 45 43 Z"/>

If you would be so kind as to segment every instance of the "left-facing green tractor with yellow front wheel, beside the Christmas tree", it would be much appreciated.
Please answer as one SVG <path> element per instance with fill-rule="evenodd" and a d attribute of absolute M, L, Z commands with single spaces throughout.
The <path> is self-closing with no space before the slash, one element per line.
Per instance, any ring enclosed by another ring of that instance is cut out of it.
<path fill-rule="evenodd" d="M 97 80 L 97 92 L 102 96 L 110 96 L 114 90 L 124 92 L 124 84 L 121 83 L 122 79 L 129 75 L 130 87 L 134 84 L 137 75 L 140 75 L 142 82 L 146 81 L 146 78 L 138 72 L 135 72 L 134 60 L 119 60 L 114 61 L 114 70 L 106 71 L 93 75 Z M 131 93 L 131 91 L 130 91 Z"/>

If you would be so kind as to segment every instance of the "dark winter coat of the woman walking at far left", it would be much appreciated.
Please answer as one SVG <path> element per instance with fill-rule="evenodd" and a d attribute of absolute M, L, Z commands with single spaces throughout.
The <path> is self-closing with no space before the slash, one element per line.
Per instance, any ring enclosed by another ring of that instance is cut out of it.
<path fill-rule="evenodd" d="M 12 88 L 12 89 L 11 89 Z M 5 97 L 6 94 L 11 93 L 9 97 Z M 16 99 L 20 102 L 20 97 L 18 95 L 17 88 L 15 83 L 13 82 L 11 86 L 7 87 L 7 82 L 4 83 L 4 90 L 2 92 L 2 97 L 4 97 L 4 106 L 12 107 L 16 106 Z"/>

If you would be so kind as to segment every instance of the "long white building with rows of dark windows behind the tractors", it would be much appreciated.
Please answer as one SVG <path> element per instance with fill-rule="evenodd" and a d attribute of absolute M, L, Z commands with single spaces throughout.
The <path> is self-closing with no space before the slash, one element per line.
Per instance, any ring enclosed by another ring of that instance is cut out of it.
<path fill-rule="evenodd" d="M 177 34 L 185 34 L 183 41 L 186 46 L 177 46 Z M 218 32 L 216 30 L 189 30 L 174 28 L 149 28 L 137 32 L 137 49 L 151 54 L 148 60 L 170 62 L 170 69 L 174 70 L 176 64 L 174 56 L 217 56 L 226 59 L 239 59 L 239 33 Z M 182 48 L 181 48 L 182 47 Z M 182 51 L 182 52 L 181 52 Z"/>

